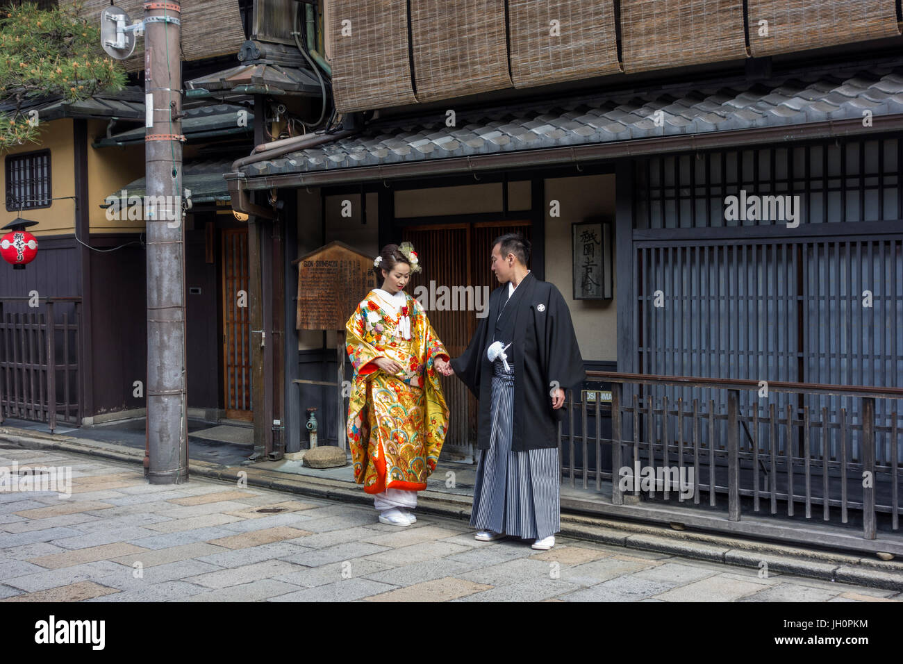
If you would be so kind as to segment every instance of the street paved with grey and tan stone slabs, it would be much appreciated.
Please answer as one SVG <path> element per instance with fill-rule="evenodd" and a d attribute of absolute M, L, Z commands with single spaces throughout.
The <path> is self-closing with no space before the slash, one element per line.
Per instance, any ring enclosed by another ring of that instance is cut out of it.
<path fill-rule="evenodd" d="M 460 520 L 396 528 L 375 510 L 194 478 L 151 486 L 123 463 L 0 448 L 68 466 L 72 494 L 0 491 L 3 602 L 408 600 L 873 602 L 896 591 L 558 538 L 478 542 Z"/>

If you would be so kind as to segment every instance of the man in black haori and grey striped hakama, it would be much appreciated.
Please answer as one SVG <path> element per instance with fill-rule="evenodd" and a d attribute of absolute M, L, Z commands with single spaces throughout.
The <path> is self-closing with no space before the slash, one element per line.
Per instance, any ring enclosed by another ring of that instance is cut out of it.
<path fill-rule="evenodd" d="M 526 264 L 530 243 L 519 233 L 497 238 L 489 296 L 467 350 L 450 363 L 479 400 L 479 464 L 470 525 L 476 538 L 506 535 L 554 547 L 560 527 L 557 426 L 564 390 L 586 373 L 571 313 L 558 289 Z"/>

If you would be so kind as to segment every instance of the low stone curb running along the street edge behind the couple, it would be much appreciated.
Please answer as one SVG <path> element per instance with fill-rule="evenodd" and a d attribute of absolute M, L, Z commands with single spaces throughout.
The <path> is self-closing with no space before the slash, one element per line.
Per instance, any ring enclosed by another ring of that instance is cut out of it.
<path fill-rule="evenodd" d="M 144 463 L 144 450 L 102 444 L 71 436 L 0 427 L 0 441 L 25 449 L 58 450 L 124 463 Z M 361 489 L 348 482 L 290 475 L 255 469 L 253 466 L 224 467 L 204 461 L 189 462 L 191 474 L 220 482 L 235 483 L 239 473 L 247 486 L 286 491 L 312 498 L 372 504 Z M 417 510 L 426 514 L 470 519 L 468 497 L 421 491 Z M 826 581 L 867 585 L 884 590 L 903 591 L 903 561 L 881 561 L 842 552 L 789 547 L 768 541 L 734 538 L 693 530 L 675 530 L 658 525 L 562 513 L 561 534 L 617 547 L 683 556 L 768 572 L 807 576 Z"/>

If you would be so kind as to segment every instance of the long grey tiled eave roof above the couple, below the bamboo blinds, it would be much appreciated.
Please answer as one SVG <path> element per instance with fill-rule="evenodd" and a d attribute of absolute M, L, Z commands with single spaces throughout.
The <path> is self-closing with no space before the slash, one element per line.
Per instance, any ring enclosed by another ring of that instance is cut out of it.
<path fill-rule="evenodd" d="M 429 124 L 409 118 L 368 126 L 358 136 L 249 164 L 248 175 L 321 171 L 376 164 L 705 134 L 824 120 L 903 115 L 903 66 L 850 68 L 821 77 L 782 77 L 617 96 L 558 99 L 532 107 L 471 109 L 457 126 L 444 114 Z"/>

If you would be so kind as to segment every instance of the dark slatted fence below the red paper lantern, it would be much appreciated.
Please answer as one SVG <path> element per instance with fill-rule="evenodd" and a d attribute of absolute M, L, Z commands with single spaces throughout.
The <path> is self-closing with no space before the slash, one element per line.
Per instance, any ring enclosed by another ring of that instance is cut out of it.
<path fill-rule="evenodd" d="M 81 425 L 80 307 L 79 297 L 0 298 L 0 423 Z"/>

